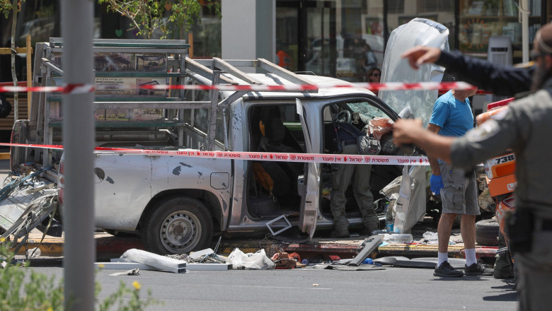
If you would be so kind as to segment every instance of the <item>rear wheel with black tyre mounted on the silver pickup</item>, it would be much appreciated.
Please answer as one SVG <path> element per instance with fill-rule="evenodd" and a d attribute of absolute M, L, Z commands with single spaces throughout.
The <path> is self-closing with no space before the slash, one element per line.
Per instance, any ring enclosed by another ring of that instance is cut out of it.
<path fill-rule="evenodd" d="M 203 250 L 211 242 L 213 223 L 205 204 L 185 196 L 159 201 L 144 218 L 142 243 L 156 254 Z"/>

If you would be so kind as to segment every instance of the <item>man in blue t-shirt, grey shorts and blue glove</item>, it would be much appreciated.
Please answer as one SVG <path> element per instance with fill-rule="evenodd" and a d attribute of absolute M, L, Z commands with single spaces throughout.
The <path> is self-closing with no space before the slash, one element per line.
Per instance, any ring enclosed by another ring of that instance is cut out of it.
<path fill-rule="evenodd" d="M 476 90 L 449 90 L 437 99 L 427 129 L 443 136 L 462 136 L 473 129 L 473 114 L 469 96 Z M 438 261 L 435 276 L 464 276 L 449 264 L 449 238 L 454 219 L 461 215 L 460 232 L 466 252 L 466 275 L 489 274 L 476 259 L 476 216 L 479 215 L 475 172 L 453 168 L 437 158 L 428 157 L 431 165 L 430 187 L 441 194 L 442 215 L 437 226 L 439 237 Z"/>

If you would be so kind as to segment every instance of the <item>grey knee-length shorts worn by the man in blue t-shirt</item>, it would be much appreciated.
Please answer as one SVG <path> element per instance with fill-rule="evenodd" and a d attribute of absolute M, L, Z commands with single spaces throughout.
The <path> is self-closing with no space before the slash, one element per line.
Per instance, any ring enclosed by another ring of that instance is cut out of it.
<path fill-rule="evenodd" d="M 464 170 L 452 168 L 447 163 L 439 163 L 439 168 L 444 185 L 441 189 L 443 213 L 479 215 L 476 173 L 471 172 L 466 177 Z"/>

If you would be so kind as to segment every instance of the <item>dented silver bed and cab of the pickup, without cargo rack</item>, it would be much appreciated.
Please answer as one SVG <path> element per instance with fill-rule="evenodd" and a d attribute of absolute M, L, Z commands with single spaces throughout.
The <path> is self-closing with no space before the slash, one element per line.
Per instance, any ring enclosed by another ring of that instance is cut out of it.
<path fill-rule="evenodd" d="M 212 62 L 216 64 L 216 60 Z M 263 60 L 256 62 L 263 64 Z M 318 86 L 338 82 L 320 76 L 284 76 L 283 72 L 246 76 L 268 85 L 289 83 L 286 78 L 292 77 Z M 238 79 L 234 75 L 226 77 Z M 190 83 L 209 83 L 195 78 Z M 351 123 L 355 119 L 360 129 L 375 117 L 391 120 L 398 117 L 365 89 L 241 93 L 239 97 L 234 92 L 222 92 L 220 95 L 214 148 L 207 147 L 207 118 L 195 109 L 183 116 L 185 146 L 179 150 L 188 147 L 215 151 L 328 153 L 335 149 L 331 136 L 335 136 L 332 115 L 343 115 Z M 189 98 L 201 100 L 207 98 L 207 92 L 196 90 L 190 92 Z M 355 117 L 349 118 L 350 115 Z M 383 139 L 389 146 L 391 135 L 386 134 Z M 148 148 L 175 150 L 169 146 Z M 389 151 L 384 154 L 396 153 L 396 148 L 391 147 Z M 321 195 L 331 175 L 330 165 L 326 166 L 235 158 L 96 153 L 96 225 L 108 230 L 139 230 L 144 247 L 157 253 L 205 248 L 214 230 L 267 231 L 266 223 L 282 215 L 287 216 L 291 225 L 299 225 L 302 231 L 312 235 L 315 228 L 333 226 L 329 200 Z M 401 174 L 401 170 L 389 165 L 374 165 L 374 170 L 377 171 L 372 174 L 374 190 Z M 272 182 L 263 182 L 262 175 L 270 176 Z M 355 202 L 352 198 L 350 201 Z M 351 225 L 361 225 L 360 214 L 353 212 L 357 210 L 355 206 L 351 210 L 348 215 Z M 272 228 L 277 230 L 281 225 L 274 223 Z"/>

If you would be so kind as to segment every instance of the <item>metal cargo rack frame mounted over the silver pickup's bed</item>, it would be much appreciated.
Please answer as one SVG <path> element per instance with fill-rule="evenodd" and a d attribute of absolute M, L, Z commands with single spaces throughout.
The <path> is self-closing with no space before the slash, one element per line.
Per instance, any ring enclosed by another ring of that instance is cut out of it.
<path fill-rule="evenodd" d="M 62 85 L 62 38 L 50 38 L 35 47 L 33 86 Z M 200 83 L 262 85 L 237 67 L 267 71 L 297 84 L 312 84 L 305 78 L 287 71 L 265 59 L 222 60 L 219 58 L 193 60 L 186 57 L 189 45 L 185 40 L 93 40 L 95 82 L 93 102 L 96 111 L 96 146 L 139 148 L 182 148 L 184 146 L 185 111 L 193 120 L 195 110 L 207 110 L 207 146 L 215 148 L 217 115 L 248 90 L 238 90 L 219 102 L 219 90 L 209 90 L 208 100 L 195 98 L 195 90 L 151 90 L 140 84 Z M 229 74 L 229 75 L 226 75 Z M 188 78 L 188 79 L 187 79 Z M 192 79 L 194 78 L 193 81 Z M 316 92 L 309 90 L 306 92 Z M 33 97 L 29 120 L 18 120 L 13 127 L 13 143 L 62 144 L 62 95 L 38 93 Z M 149 116 L 144 117 L 144 115 Z M 152 117 L 151 114 L 154 116 Z M 224 119 L 224 117 L 223 117 Z M 224 146 L 227 147 L 226 127 Z M 61 151 L 38 148 L 12 148 L 11 169 L 19 163 L 33 161 L 50 165 Z"/>

